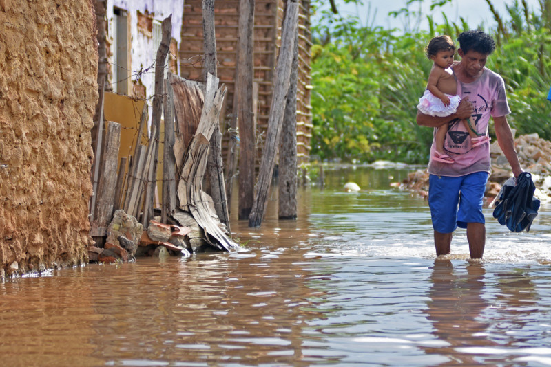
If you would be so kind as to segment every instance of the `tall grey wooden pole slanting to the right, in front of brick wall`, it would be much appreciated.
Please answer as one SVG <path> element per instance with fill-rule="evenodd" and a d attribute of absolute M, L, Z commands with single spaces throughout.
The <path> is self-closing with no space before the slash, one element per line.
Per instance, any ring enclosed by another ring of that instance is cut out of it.
<path fill-rule="evenodd" d="M 298 2 L 287 1 L 287 12 L 284 20 L 281 49 L 278 57 L 278 65 L 275 67 L 275 83 L 273 85 L 273 97 L 270 105 L 266 143 L 260 162 L 260 173 L 256 183 L 256 195 L 253 209 L 249 216 L 249 227 L 260 227 L 264 217 L 264 210 L 268 199 L 275 155 L 280 142 L 281 126 L 284 115 L 284 105 L 289 91 L 289 79 L 295 47 L 296 32 L 298 31 Z"/>

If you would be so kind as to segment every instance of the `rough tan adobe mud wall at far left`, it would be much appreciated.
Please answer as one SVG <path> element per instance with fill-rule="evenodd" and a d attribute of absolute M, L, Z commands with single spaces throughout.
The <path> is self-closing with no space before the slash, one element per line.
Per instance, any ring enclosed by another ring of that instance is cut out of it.
<path fill-rule="evenodd" d="M 0 277 L 87 260 L 90 0 L 0 0 Z"/>

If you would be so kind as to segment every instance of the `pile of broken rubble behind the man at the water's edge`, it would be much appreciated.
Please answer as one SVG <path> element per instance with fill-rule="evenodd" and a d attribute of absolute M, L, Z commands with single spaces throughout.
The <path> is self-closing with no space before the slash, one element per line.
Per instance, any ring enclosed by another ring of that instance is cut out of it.
<path fill-rule="evenodd" d="M 541 139 L 537 133 L 521 135 L 514 140 L 514 146 L 523 170 L 532 174 L 536 185 L 535 196 L 541 201 L 551 200 L 551 142 Z M 490 203 L 501 190 L 501 185 L 512 176 L 512 171 L 499 144 L 490 144 L 492 172 L 486 185 L 486 204 Z M 409 173 L 402 182 L 391 186 L 410 190 L 420 196 L 428 197 L 428 173 L 417 170 Z"/>

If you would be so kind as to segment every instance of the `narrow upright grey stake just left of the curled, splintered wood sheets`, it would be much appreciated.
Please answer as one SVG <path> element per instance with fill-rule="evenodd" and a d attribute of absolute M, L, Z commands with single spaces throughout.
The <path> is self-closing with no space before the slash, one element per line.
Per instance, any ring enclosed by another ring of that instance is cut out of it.
<path fill-rule="evenodd" d="M 167 223 L 167 214 L 176 209 L 176 157 L 174 157 L 174 99 L 172 87 L 165 79 L 165 146 L 163 151 L 163 205 L 161 205 L 160 221 Z"/>

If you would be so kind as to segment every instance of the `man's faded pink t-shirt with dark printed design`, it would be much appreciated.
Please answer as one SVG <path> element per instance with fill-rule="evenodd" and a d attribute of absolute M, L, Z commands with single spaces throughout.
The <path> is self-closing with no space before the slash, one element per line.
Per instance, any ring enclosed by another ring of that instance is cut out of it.
<path fill-rule="evenodd" d="M 458 81 L 457 94 L 461 98 L 468 97 L 469 102 L 472 103 L 474 111 L 470 123 L 479 134 L 488 135 L 490 116 L 499 118 L 511 113 L 503 78 L 486 67 L 475 82 Z M 445 125 L 443 127 L 446 128 Z M 428 162 L 430 174 L 457 177 L 475 172 L 490 173 L 490 144 L 472 148 L 469 133 L 461 120 L 453 120 L 449 123 L 446 140 L 444 140 L 444 150 L 455 162 L 448 164 L 433 160 L 435 150 L 436 142 L 433 138 L 433 146 L 430 147 L 431 159 Z"/>

